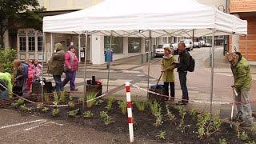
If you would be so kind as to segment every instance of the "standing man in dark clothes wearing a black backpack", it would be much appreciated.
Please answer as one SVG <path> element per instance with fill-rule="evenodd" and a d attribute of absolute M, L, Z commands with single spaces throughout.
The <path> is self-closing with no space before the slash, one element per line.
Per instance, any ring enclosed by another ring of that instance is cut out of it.
<path fill-rule="evenodd" d="M 186 51 L 185 43 L 178 43 L 178 78 L 182 88 L 182 101 L 178 105 L 186 105 L 189 101 L 189 94 L 186 87 L 186 74 L 187 71 L 194 71 L 194 59 L 190 53 Z"/>

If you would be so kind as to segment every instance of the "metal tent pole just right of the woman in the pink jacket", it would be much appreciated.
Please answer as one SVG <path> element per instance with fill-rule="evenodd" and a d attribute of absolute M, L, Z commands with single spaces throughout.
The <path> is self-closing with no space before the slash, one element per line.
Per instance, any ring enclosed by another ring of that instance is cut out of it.
<path fill-rule="evenodd" d="M 83 98 L 82 98 L 82 111 L 85 111 L 85 98 L 86 98 L 86 51 L 87 51 L 87 38 L 88 31 L 86 30 L 86 48 L 85 48 L 85 63 L 84 63 L 84 73 L 83 73 Z M 79 48 L 80 49 L 80 48 Z"/>

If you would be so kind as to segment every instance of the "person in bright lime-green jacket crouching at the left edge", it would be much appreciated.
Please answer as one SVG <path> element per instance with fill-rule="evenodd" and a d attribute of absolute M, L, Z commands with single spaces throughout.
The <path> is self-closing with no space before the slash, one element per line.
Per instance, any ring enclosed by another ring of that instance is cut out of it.
<path fill-rule="evenodd" d="M 0 73 L 0 98 L 12 98 L 12 89 L 10 73 Z"/>

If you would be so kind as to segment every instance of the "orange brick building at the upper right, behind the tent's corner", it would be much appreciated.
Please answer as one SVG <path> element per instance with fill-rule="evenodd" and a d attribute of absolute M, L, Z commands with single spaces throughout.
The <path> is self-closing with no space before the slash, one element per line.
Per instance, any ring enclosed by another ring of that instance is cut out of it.
<path fill-rule="evenodd" d="M 230 37 L 230 51 L 240 51 L 249 61 L 256 61 L 256 0 L 230 0 L 230 14 L 248 22 L 247 38 Z"/>

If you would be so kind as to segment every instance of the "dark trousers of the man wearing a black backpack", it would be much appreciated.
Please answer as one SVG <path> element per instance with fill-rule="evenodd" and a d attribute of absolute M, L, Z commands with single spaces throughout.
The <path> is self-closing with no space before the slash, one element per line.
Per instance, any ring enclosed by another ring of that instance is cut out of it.
<path fill-rule="evenodd" d="M 187 72 L 178 72 L 178 78 L 182 88 L 182 99 L 185 100 L 183 102 L 187 102 L 189 100 L 189 93 L 186 87 L 186 74 Z"/>

